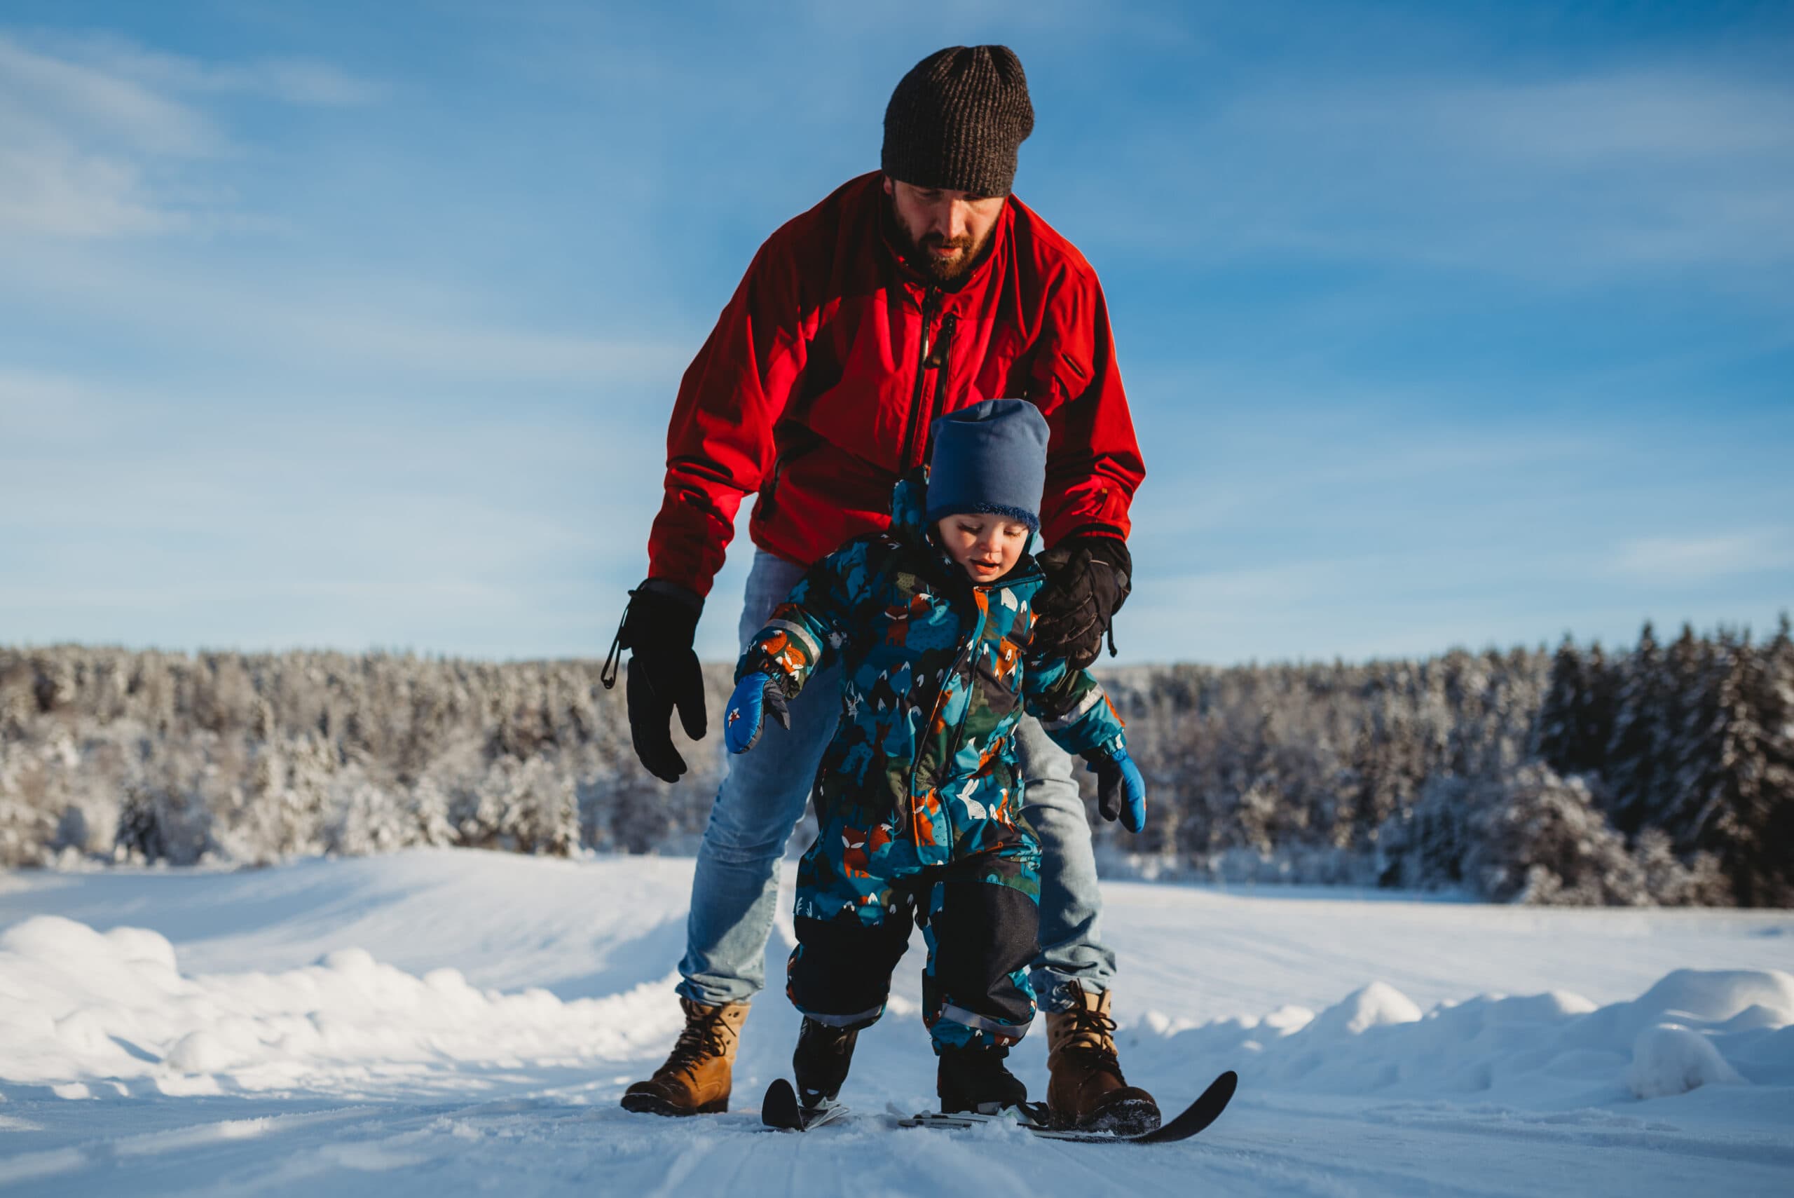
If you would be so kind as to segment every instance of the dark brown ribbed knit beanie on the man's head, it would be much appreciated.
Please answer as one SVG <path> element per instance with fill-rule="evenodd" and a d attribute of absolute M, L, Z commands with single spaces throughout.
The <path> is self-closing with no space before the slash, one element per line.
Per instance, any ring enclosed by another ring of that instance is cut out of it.
<path fill-rule="evenodd" d="M 883 169 L 915 187 L 1008 195 L 1033 133 L 1028 75 L 1008 47 L 947 47 L 910 68 L 884 109 Z"/>

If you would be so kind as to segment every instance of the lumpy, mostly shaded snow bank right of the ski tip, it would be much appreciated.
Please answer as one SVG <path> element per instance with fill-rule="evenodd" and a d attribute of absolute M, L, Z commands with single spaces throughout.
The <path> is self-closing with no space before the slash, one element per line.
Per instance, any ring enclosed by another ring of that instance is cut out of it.
<path fill-rule="evenodd" d="M 1794 1087 L 1794 976 L 1676 970 L 1629 1003 L 1548 992 L 1419 1006 L 1371 983 L 1311 1019 L 1277 1010 L 1177 1031 L 1168 1053 L 1254 1085 L 1584 1107 L 1699 1087 Z M 1740 1099 L 1751 1101 L 1751 1099 Z M 1765 1103 L 1769 1099 L 1764 1099 Z M 1776 1108 L 1785 1099 L 1774 1099 Z M 1767 1110 L 1767 1107 L 1765 1107 Z"/>

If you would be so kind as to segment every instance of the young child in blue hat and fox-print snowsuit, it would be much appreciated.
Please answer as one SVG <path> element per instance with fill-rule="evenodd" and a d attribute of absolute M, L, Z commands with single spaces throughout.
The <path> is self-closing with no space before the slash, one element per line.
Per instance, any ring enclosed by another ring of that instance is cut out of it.
<path fill-rule="evenodd" d="M 806 1107 L 832 1103 L 847 1080 L 911 918 L 927 942 L 922 1019 L 942 1110 L 1026 1101 L 1003 1065 L 1035 1013 L 1041 846 L 1021 818 L 1014 746 L 1024 712 L 1098 773 L 1107 818 L 1145 823 L 1145 784 L 1102 685 L 1028 651 L 1046 439 L 1023 400 L 936 420 L 927 479 L 897 484 L 890 529 L 811 567 L 736 667 L 723 725 L 736 753 L 766 714 L 788 723 L 786 701 L 816 669 L 845 667 L 788 976 Z"/>

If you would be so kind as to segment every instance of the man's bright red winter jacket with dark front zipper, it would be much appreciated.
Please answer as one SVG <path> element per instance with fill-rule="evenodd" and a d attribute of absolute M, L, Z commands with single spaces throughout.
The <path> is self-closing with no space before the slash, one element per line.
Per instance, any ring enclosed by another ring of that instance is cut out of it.
<path fill-rule="evenodd" d="M 893 244 L 872 172 L 761 246 L 680 382 L 649 577 L 709 594 L 752 493 L 753 543 L 798 565 L 884 529 L 933 418 L 999 396 L 1033 400 L 1051 429 L 1046 543 L 1128 534 L 1145 466 L 1084 255 L 1014 195 L 956 291 Z"/>

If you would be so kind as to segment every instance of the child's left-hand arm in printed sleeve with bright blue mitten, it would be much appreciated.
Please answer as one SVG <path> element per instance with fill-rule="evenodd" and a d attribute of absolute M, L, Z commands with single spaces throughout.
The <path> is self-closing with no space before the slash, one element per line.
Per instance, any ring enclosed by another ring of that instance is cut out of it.
<path fill-rule="evenodd" d="M 753 633 L 736 662 L 736 692 L 723 714 L 723 741 L 730 751 L 753 748 L 766 714 L 791 726 L 788 699 L 798 696 L 811 674 L 834 662 L 838 646 L 854 628 L 856 599 L 867 581 L 867 543 L 854 542 L 813 565 L 773 608 L 773 619 Z"/>

